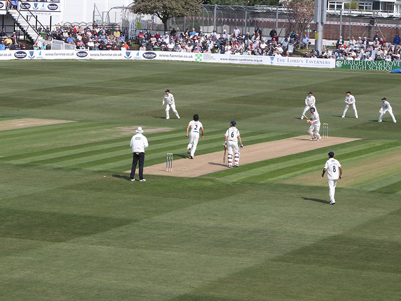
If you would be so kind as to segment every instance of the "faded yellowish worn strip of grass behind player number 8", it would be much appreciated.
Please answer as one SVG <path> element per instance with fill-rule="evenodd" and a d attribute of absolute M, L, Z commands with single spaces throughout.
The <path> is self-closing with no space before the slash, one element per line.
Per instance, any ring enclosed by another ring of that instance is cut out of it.
<path fill-rule="evenodd" d="M 341 163 L 341 162 L 340 162 Z M 341 187 L 350 188 L 384 178 L 399 172 L 401 168 L 401 153 L 399 150 L 376 155 L 350 163 L 341 163 L 343 174 Z M 327 177 L 321 177 L 324 163 L 319 171 L 306 173 L 301 176 L 289 178 L 279 183 L 304 184 L 313 186 L 327 186 Z"/>

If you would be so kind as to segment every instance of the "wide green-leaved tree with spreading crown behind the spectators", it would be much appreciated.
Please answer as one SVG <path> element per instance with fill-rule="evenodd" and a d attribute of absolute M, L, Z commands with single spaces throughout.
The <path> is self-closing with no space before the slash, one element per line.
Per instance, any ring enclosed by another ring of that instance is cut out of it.
<path fill-rule="evenodd" d="M 130 7 L 133 13 L 155 15 L 164 24 L 173 17 L 194 16 L 200 12 L 202 0 L 136 0 Z"/>

